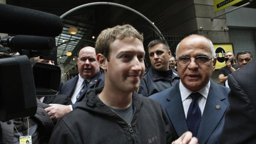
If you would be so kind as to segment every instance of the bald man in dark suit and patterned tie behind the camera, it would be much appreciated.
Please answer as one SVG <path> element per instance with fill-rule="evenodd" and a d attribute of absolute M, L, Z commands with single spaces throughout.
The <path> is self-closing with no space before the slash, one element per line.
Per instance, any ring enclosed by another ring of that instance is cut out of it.
<path fill-rule="evenodd" d="M 86 93 L 98 86 L 104 86 L 104 73 L 99 70 L 96 52 L 93 47 L 84 47 L 77 58 L 78 76 L 63 84 L 61 94 L 70 97 L 72 105 L 50 104 L 45 110 L 53 121 L 74 110 L 86 99 Z"/>

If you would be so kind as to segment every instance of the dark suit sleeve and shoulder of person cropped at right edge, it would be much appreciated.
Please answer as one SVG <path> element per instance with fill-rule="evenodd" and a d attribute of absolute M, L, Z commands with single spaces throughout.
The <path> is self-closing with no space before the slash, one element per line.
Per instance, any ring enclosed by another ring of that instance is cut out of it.
<path fill-rule="evenodd" d="M 230 107 L 221 143 L 256 143 L 256 60 L 228 75 Z"/>

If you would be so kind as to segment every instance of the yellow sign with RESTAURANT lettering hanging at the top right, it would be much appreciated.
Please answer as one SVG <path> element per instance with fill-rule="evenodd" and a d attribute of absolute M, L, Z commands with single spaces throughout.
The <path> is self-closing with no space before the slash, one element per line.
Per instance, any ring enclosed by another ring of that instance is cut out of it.
<path fill-rule="evenodd" d="M 215 13 L 243 0 L 213 0 Z"/>

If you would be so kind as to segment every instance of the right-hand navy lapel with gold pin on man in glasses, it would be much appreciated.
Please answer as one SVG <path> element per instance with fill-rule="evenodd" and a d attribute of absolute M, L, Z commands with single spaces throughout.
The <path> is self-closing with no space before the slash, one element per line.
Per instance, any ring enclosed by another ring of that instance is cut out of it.
<path fill-rule="evenodd" d="M 225 99 L 225 97 L 221 90 L 218 88 L 217 84 L 211 81 L 210 90 L 197 134 L 198 143 L 206 143 L 223 117 L 227 108 L 226 104 L 222 102 L 223 99 Z M 216 105 L 219 105 L 220 109 L 217 109 Z"/>

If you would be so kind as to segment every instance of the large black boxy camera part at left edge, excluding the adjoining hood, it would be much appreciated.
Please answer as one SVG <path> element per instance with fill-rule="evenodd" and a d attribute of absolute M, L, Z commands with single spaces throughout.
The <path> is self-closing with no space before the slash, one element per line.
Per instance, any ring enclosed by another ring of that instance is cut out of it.
<path fill-rule="evenodd" d="M 27 56 L 0 58 L 0 121 L 36 113 L 32 67 Z"/>

